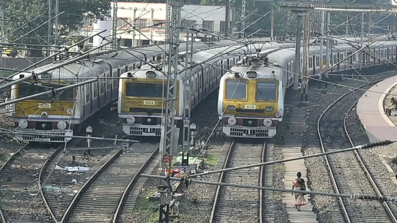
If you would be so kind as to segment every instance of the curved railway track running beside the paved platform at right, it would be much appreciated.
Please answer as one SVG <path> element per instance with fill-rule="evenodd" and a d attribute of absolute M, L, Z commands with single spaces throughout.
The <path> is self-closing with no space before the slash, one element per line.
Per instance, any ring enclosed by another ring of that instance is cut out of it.
<path fill-rule="evenodd" d="M 367 88 L 370 85 L 371 83 L 368 83 L 359 88 Z M 361 95 L 362 91 L 360 90 L 350 90 L 335 100 L 320 115 L 317 121 L 317 130 L 322 152 L 347 148 L 353 144 L 347 132 L 345 121 L 349 111 L 357 103 Z M 351 104 L 353 106 L 350 107 L 349 105 Z M 344 107 L 346 105 L 349 107 Z M 341 116 L 340 112 L 345 112 L 345 115 Z M 357 151 L 325 156 L 325 161 L 335 192 L 343 194 L 378 194 L 382 196 L 379 187 Z M 393 211 L 391 211 L 386 202 L 379 203 L 339 198 L 339 204 L 343 217 L 337 222 L 397 223 Z"/>

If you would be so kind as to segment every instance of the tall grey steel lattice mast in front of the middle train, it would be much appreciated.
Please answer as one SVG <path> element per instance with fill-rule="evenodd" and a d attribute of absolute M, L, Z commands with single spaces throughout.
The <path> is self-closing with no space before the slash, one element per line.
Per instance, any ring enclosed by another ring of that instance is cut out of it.
<path fill-rule="evenodd" d="M 162 141 L 160 143 L 160 151 L 162 152 L 162 165 L 160 175 L 164 175 L 164 170 L 168 169 L 168 175 L 171 175 L 172 155 L 177 142 L 173 142 L 174 135 L 174 118 L 176 105 L 176 88 L 178 74 L 178 48 L 179 48 L 179 32 L 181 24 L 181 8 L 185 4 L 185 0 L 167 0 L 166 12 L 166 41 L 169 42 L 168 48 L 168 69 L 167 69 L 167 85 L 166 85 L 166 112 L 164 117 L 164 131 Z M 182 87 L 182 86 L 181 86 Z M 179 134 L 178 134 L 179 135 Z M 171 185 L 167 181 L 162 182 L 161 206 L 159 222 L 169 222 L 170 212 L 170 196 Z"/>

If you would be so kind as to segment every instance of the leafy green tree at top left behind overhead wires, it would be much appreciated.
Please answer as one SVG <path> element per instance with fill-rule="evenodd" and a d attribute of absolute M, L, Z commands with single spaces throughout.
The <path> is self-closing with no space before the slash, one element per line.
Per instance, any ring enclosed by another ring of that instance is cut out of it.
<path fill-rule="evenodd" d="M 48 0 L 4 0 L 4 33 L 11 33 L 17 27 L 25 24 L 25 22 L 33 19 L 41 13 L 48 12 Z M 55 15 L 55 0 L 52 0 L 52 16 Z M 66 35 L 81 27 L 84 16 L 93 19 L 103 20 L 105 17 L 110 17 L 110 2 L 107 0 L 59 0 L 59 12 L 65 11 L 58 17 L 60 24 L 58 35 Z M 41 23 L 48 20 L 48 13 L 42 17 L 25 25 L 7 38 L 7 42 L 12 43 L 18 37 L 31 31 Z M 52 20 L 54 22 L 55 19 Z M 52 23 L 54 24 L 54 23 Z M 17 40 L 15 43 L 26 44 L 47 44 L 48 37 L 48 23 L 29 33 L 25 37 Z M 51 34 L 52 38 L 49 44 L 54 44 L 54 29 Z M 27 48 L 32 48 L 28 46 Z M 29 50 L 28 56 L 42 56 L 40 47 L 37 50 Z"/>

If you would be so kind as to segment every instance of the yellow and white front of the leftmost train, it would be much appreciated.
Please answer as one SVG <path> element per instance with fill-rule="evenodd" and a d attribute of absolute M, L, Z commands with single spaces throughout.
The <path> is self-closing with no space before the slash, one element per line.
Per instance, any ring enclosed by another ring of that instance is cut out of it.
<path fill-rule="evenodd" d="M 13 79 L 31 75 L 21 73 Z M 40 77 L 39 77 L 40 78 Z M 12 85 L 9 99 L 23 98 L 40 92 L 48 91 L 51 88 L 67 86 L 63 81 L 40 80 L 40 85 L 27 85 L 19 83 Z M 34 82 L 34 81 L 29 81 Z M 77 95 L 76 88 L 64 90 L 55 100 L 52 93 L 38 96 L 33 99 L 24 100 L 8 106 L 10 110 L 10 121 L 15 124 L 15 138 L 27 142 L 65 142 L 71 138 L 75 127 L 79 126 L 80 119 L 78 113 L 79 104 L 75 103 Z M 50 136 L 35 135 L 45 134 Z"/>

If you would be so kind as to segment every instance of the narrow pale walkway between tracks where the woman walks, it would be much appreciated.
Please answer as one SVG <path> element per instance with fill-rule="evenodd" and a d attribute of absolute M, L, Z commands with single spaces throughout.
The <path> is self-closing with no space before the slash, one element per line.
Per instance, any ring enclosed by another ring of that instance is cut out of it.
<path fill-rule="evenodd" d="M 284 159 L 303 156 L 302 155 L 302 139 L 301 133 L 305 129 L 305 116 L 306 108 L 294 108 L 293 115 L 291 116 L 290 129 L 284 133 L 284 145 L 282 146 L 282 152 Z M 292 188 L 292 182 L 297 177 L 297 172 L 302 173 L 302 178 L 306 181 L 306 190 L 310 189 L 307 187 L 307 169 L 304 164 L 304 160 L 295 160 L 284 163 L 285 175 L 284 175 L 284 187 L 287 189 Z M 310 198 L 310 195 L 305 196 L 306 201 Z M 291 193 L 284 193 L 283 203 L 287 205 L 288 222 L 289 223 L 318 223 L 317 215 L 314 213 L 313 206 L 306 204 L 301 207 L 302 211 L 297 211 L 294 208 L 295 198 Z"/>

